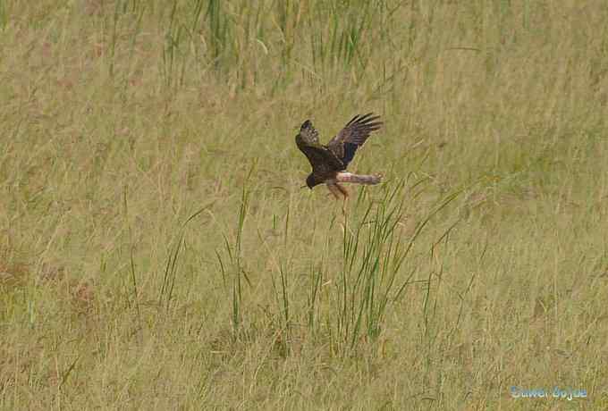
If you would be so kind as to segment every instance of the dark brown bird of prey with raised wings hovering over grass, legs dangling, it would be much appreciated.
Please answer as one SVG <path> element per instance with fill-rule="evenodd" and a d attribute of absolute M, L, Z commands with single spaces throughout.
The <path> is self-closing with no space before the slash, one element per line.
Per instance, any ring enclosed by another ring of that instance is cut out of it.
<path fill-rule="evenodd" d="M 380 175 L 353 174 L 346 171 L 357 149 L 365 144 L 372 131 L 382 126 L 382 122 L 376 122 L 379 118 L 379 115 L 375 116 L 373 113 L 354 116 L 326 145 L 319 143 L 318 132 L 312 122 L 304 122 L 296 136 L 296 145 L 312 165 L 312 172 L 306 179 L 308 189 L 325 183 L 334 197 L 342 196 L 346 199 L 349 193 L 340 183 L 379 183 L 382 180 Z"/>

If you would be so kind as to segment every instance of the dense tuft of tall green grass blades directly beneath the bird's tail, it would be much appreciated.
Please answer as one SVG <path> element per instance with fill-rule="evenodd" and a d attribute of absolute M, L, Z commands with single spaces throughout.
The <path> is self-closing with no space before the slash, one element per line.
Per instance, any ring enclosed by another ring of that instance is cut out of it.
<path fill-rule="evenodd" d="M 411 200 L 405 188 L 402 180 L 385 185 L 384 196 L 378 200 L 359 197 L 344 221 L 330 226 L 330 231 L 342 230 L 342 258 L 326 262 L 325 273 L 318 269 L 310 273 L 308 326 L 317 332 L 325 327 L 322 332 L 338 355 L 357 352 L 362 341 L 377 342 L 386 327 L 386 310 L 400 301 L 408 285 L 419 282 L 412 281 L 415 271 L 406 269 L 418 236 L 458 195 L 443 198 L 411 231 L 403 223 L 405 204 Z M 331 293 L 322 292 L 324 283 L 331 284 Z"/>

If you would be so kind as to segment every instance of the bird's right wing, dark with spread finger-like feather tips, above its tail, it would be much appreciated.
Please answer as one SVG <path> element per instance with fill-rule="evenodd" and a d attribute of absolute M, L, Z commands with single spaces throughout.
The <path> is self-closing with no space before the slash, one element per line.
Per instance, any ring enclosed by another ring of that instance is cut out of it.
<path fill-rule="evenodd" d="M 374 113 L 358 114 L 327 143 L 327 147 L 340 159 L 344 168 L 354 158 L 357 148 L 365 144 L 369 134 L 382 127 L 383 122 L 376 122 L 379 118 Z"/>

